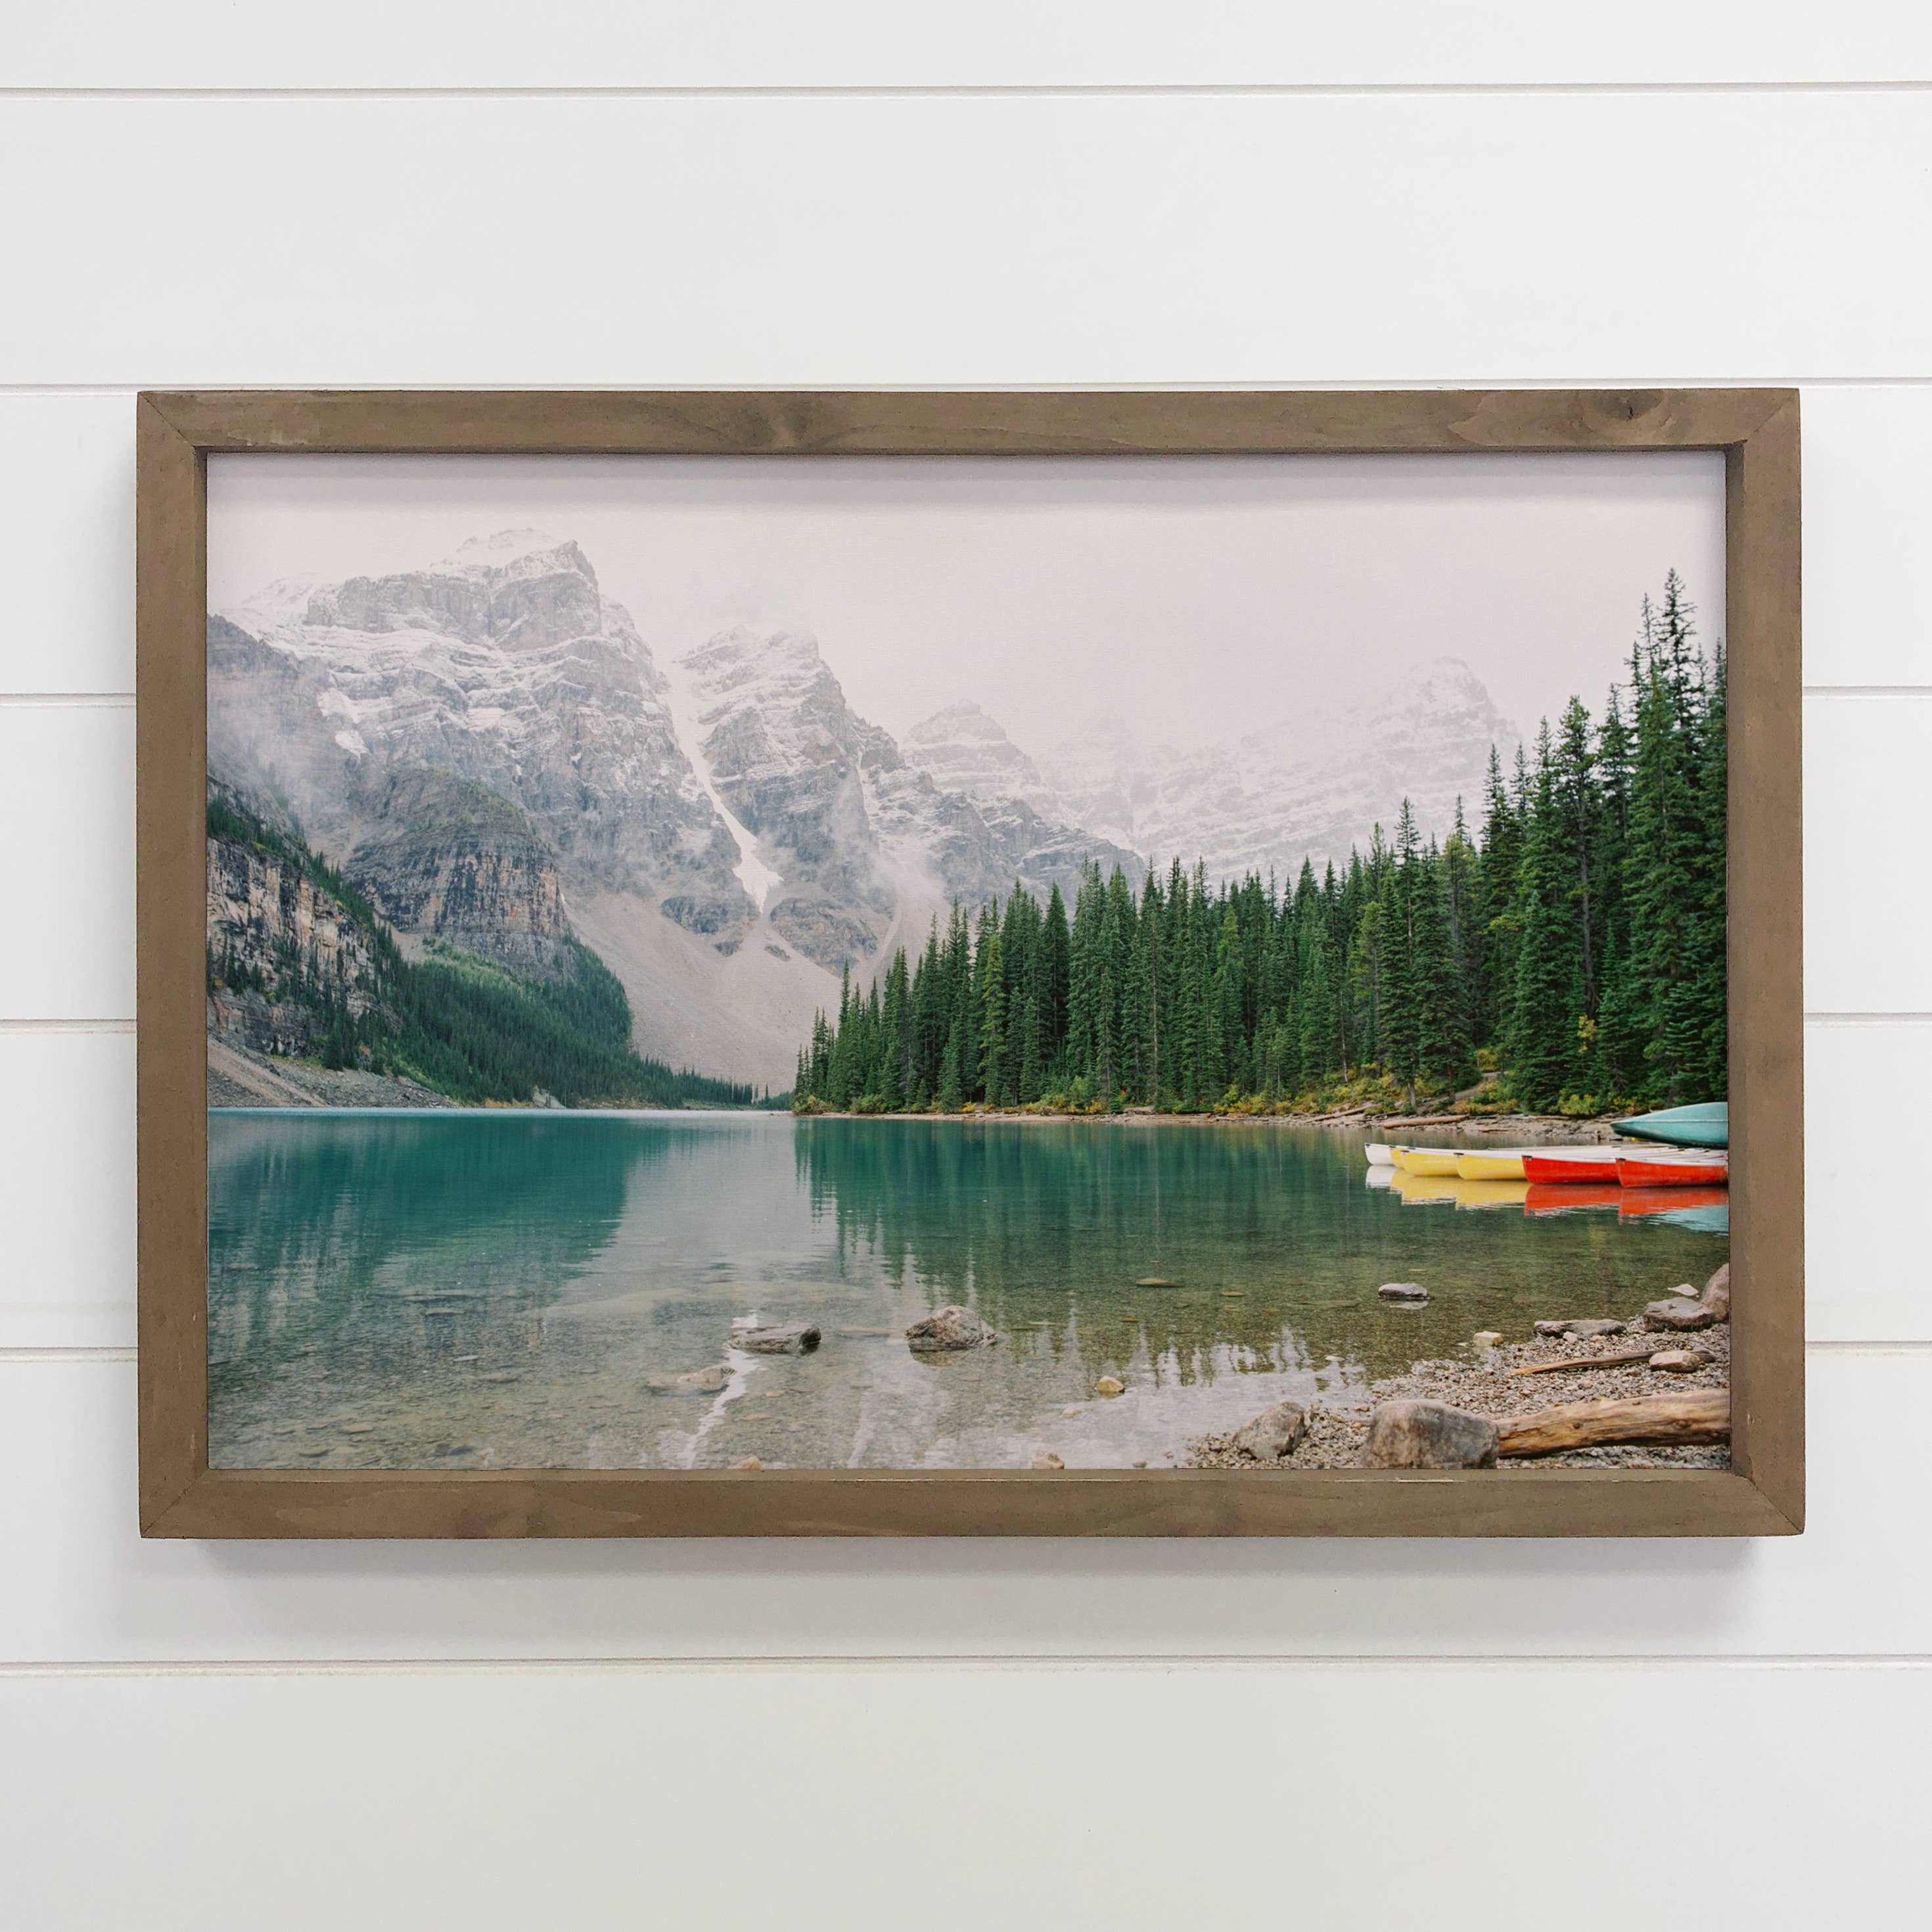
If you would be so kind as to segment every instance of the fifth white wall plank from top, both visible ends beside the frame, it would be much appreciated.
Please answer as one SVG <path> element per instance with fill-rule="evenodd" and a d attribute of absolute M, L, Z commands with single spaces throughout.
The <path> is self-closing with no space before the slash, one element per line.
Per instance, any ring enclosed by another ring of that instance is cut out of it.
<path fill-rule="evenodd" d="M 1932 1022 L 1814 1020 L 1804 1078 L 1806 1331 L 1932 1341 L 1917 1155 L 1872 1126 L 1932 1092 Z M 133 1037 L 0 1034 L 0 1349 L 133 1347 Z"/>

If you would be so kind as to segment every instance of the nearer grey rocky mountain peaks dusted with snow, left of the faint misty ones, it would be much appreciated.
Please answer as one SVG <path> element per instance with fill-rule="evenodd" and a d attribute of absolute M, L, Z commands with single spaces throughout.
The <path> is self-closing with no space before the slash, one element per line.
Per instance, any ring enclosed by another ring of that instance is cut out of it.
<path fill-rule="evenodd" d="M 1090 852 L 1134 869 L 910 765 L 811 638 L 661 659 L 539 531 L 211 614 L 209 763 L 294 815 L 406 947 L 541 972 L 578 935 L 641 1051 L 773 1086 L 846 960 L 869 978 L 954 896 L 1072 887 Z"/>

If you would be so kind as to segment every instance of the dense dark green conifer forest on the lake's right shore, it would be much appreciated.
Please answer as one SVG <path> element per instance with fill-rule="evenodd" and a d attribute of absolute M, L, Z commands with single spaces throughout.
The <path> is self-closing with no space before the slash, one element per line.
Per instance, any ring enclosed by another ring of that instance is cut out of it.
<path fill-rule="evenodd" d="M 1725 668 L 1677 572 L 1642 603 L 1629 680 L 1571 697 L 1482 823 L 1302 862 L 1293 885 L 1177 860 L 1136 889 L 1082 867 L 1072 906 L 1020 883 L 954 902 L 798 1053 L 798 1111 L 1414 1107 L 1484 1082 L 1538 1113 L 1719 1099 Z"/>

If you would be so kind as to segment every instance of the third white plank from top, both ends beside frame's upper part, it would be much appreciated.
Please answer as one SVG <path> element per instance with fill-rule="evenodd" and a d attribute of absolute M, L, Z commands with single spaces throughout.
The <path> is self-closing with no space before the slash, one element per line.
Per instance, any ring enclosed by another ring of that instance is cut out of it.
<path fill-rule="evenodd" d="M 1932 383 L 1804 392 L 1804 682 L 1932 684 Z M 133 688 L 133 392 L 0 394 L 0 694 Z"/>

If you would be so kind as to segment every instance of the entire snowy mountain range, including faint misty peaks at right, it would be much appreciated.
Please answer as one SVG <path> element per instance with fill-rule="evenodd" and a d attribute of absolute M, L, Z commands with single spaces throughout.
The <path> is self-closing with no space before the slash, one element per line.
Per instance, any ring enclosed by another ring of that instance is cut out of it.
<path fill-rule="evenodd" d="M 665 655 L 576 543 L 529 529 L 209 618 L 211 777 L 298 827 L 406 954 L 568 974 L 589 945 L 641 1053 L 773 1088 L 840 968 L 869 981 L 954 898 L 1072 895 L 1088 858 L 1293 875 L 1405 794 L 1445 829 L 1492 740 L 1507 757 L 1515 732 L 1449 659 L 1225 748 L 1113 721 L 1034 759 L 980 703 L 895 740 L 811 636 Z"/>

